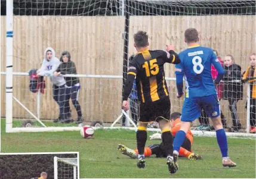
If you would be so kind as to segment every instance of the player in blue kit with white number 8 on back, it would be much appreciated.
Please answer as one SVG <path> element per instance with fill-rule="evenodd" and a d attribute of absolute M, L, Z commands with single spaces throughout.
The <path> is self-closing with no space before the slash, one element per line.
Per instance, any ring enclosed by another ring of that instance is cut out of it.
<path fill-rule="evenodd" d="M 212 49 L 199 46 L 198 41 L 198 31 L 193 28 L 187 29 L 185 42 L 188 48 L 179 54 L 181 62 L 175 65 L 177 98 L 183 95 L 183 76 L 186 81 L 186 92 L 181 112 L 181 128 L 173 143 L 174 162 L 177 161 L 178 151 L 192 121 L 196 120 L 204 109 L 214 125 L 223 166 L 236 167 L 235 162 L 231 161 L 227 155 L 227 137 L 221 123 L 220 103 L 215 90 L 215 84 L 220 83 L 224 70 Z M 218 71 L 218 76 L 214 81 L 211 76 L 211 65 L 214 65 Z"/>

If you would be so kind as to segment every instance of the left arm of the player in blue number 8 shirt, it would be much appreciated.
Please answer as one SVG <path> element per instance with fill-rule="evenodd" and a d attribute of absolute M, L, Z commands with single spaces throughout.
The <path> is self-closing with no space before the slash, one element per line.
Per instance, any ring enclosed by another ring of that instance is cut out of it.
<path fill-rule="evenodd" d="M 176 86 L 177 86 L 177 97 L 180 98 L 183 95 L 183 63 L 182 61 L 175 65 L 175 74 L 176 74 Z"/>

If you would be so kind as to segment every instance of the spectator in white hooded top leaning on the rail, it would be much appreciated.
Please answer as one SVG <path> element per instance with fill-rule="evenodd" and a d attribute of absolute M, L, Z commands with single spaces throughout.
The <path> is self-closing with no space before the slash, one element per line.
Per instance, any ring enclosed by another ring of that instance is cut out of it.
<path fill-rule="evenodd" d="M 53 76 L 54 71 L 57 70 L 60 65 L 60 60 L 55 56 L 53 48 L 48 47 L 44 52 L 44 61 L 41 68 L 36 71 L 36 76 L 49 76 L 53 83 L 53 99 L 58 103 L 60 108 L 60 114 L 57 120 L 53 120 L 54 123 L 61 122 L 66 116 L 70 114 L 64 114 L 64 95 L 61 95 L 65 91 L 66 81 L 64 77 Z"/>

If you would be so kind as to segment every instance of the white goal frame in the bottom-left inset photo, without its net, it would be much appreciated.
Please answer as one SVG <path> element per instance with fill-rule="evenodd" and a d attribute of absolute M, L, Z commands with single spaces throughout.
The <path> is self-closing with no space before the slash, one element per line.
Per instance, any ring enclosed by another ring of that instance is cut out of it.
<path fill-rule="evenodd" d="M 71 162 L 68 161 L 68 159 L 76 159 L 77 164 L 73 164 Z M 72 165 L 73 166 L 73 179 L 78 179 L 76 177 L 76 169 L 78 169 L 78 158 L 58 158 L 57 156 L 54 156 L 54 179 L 58 179 L 58 162 L 62 162 L 64 164 L 68 164 L 68 165 Z M 79 174 L 78 174 L 79 176 Z"/>

